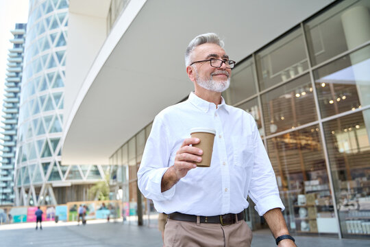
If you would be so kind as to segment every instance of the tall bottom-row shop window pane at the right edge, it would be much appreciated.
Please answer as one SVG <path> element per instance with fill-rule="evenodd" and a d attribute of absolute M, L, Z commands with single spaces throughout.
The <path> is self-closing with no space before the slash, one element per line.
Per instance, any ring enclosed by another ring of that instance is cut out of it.
<path fill-rule="evenodd" d="M 323 124 L 344 237 L 370 236 L 370 110 Z"/>

